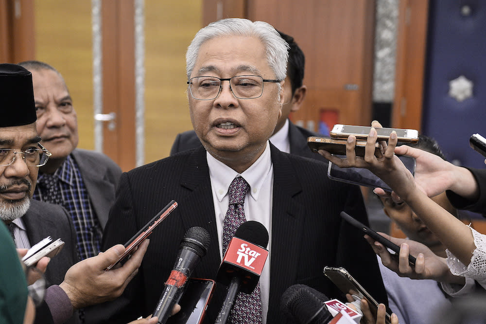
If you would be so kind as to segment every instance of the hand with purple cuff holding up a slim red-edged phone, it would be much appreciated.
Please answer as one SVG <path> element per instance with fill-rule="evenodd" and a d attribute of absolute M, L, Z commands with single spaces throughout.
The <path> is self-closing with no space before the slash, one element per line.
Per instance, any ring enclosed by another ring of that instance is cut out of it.
<path fill-rule="evenodd" d="M 116 262 L 125 252 L 121 244 L 80 261 L 69 268 L 59 287 L 66 292 L 74 308 L 115 299 L 137 274 L 148 245 L 149 240 L 146 239 L 122 267 L 109 271 L 104 269 Z"/>

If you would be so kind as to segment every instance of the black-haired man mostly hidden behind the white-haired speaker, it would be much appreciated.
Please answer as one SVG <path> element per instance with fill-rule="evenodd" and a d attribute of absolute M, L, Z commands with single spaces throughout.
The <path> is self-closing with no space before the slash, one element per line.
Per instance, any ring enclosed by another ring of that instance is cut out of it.
<path fill-rule="evenodd" d="M 285 77 L 282 116 L 278 119 L 277 126 L 270 142 L 280 151 L 305 156 L 311 159 L 327 162 L 320 154 L 313 153 L 307 146 L 309 136 L 320 136 L 306 128 L 296 126 L 289 119 L 289 114 L 300 109 L 304 102 L 307 87 L 303 84 L 305 56 L 294 37 L 278 32 L 289 44 L 289 61 L 287 64 L 287 76 Z M 201 142 L 194 130 L 188 130 L 177 134 L 171 148 L 171 155 L 201 146 Z"/>

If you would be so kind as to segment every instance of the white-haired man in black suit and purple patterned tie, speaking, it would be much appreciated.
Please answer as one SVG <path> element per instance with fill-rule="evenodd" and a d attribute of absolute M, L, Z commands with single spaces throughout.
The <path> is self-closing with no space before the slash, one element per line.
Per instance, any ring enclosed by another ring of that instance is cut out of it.
<path fill-rule="evenodd" d="M 188 101 L 204 147 L 121 176 L 104 247 L 127 241 L 171 199 L 179 206 L 150 236 L 139 275 L 122 296 L 92 310 L 102 321 L 123 323 L 152 313 L 192 226 L 206 228 L 212 240 L 193 276 L 214 279 L 227 236 L 234 234 L 228 228 L 242 218 L 265 226 L 270 254 L 258 288 L 238 295 L 231 323 L 285 323 L 280 297 L 297 283 L 340 295 L 324 266 L 345 267 L 386 302 L 373 251 L 339 216 L 346 210 L 368 222 L 359 188 L 328 180 L 322 162 L 283 153 L 268 141 L 285 100 L 287 55 L 285 41 L 261 21 L 223 19 L 196 34 L 186 54 Z M 230 200 L 234 192 L 244 202 Z M 207 323 L 214 323 L 224 295 L 218 284 Z"/>

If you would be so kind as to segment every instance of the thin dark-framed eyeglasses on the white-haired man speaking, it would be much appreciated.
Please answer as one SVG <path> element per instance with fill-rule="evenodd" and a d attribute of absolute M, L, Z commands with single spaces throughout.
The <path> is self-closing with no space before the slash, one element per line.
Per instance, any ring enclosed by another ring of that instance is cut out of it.
<path fill-rule="evenodd" d="M 259 75 L 237 75 L 229 79 L 215 76 L 196 76 L 187 82 L 191 96 L 197 100 L 215 99 L 221 92 L 222 81 L 229 81 L 229 90 L 238 99 L 255 99 L 263 93 L 263 82 L 280 82 L 266 80 Z"/>

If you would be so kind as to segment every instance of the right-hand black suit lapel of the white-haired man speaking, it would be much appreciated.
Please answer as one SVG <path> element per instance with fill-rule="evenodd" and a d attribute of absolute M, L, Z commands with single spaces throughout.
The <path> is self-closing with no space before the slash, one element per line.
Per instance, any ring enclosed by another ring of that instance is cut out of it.
<path fill-rule="evenodd" d="M 285 289 L 295 283 L 305 206 L 295 196 L 302 191 L 289 155 L 271 146 L 274 169 L 272 209 L 272 252 L 269 313 L 278 313 Z"/>

